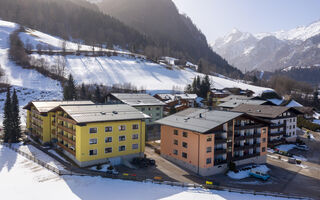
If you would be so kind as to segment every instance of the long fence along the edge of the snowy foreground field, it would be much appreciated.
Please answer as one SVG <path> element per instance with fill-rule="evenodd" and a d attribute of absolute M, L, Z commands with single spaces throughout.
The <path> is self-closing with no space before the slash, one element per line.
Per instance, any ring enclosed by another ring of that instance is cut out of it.
<path fill-rule="evenodd" d="M 287 199 L 310 199 L 310 198 L 300 197 L 300 196 L 293 196 L 293 195 L 289 196 L 289 195 L 282 194 L 282 193 L 257 192 L 254 190 L 229 188 L 229 187 L 212 185 L 212 183 L 209 183 L 206 185 L 201 185 L 201 184 L 194 184 L 194 183 L 162 181 L 161 177 L 154 177 L 154 179 L 148 179 L 147 177 L 137 176 L 135 174 L 128 174 L 128 173 L 122 173 L 122 174 L 115 175 L 115 174 L 107 174 L 105 172 L 90 171 L 90 170 L 84 170 L 84 169 L 78 169 L 78 170 L 70 169 L 69 171 L 60 170 L 56 167 L 53 167 L 53 166 L 35 158 L 34 156 L 32 156 L 30 154 L 27 154 L 17 148 L 12 147 L 11 145 L 9 145 L 7 143 L 3 143 L 2 141 L 0 141 L 0 145 L 8 147 L 9 149 L 17 152 L 18 154 L 22 155 L 23 157 L 45 167 L 46 169 L 58 174 L 59 176 L 61 176 L 61 175 L 101 176 L 104 178 L 130 180 L 130 181 L 153 183 L 153 184 L 168 185 L 168 186 L 177 186 L 177 187 L 187 187 L 187 188 L 193 187 L 193 188 L 202 188 L 202 189 L 210 189 L 210 190 L 220 190 L 220 191 L 234 192 L 234 193 L 239 193 L 239 194 L 272 196 L 272 197 L 280 197 L 280 198 L 287 198 Z"/>

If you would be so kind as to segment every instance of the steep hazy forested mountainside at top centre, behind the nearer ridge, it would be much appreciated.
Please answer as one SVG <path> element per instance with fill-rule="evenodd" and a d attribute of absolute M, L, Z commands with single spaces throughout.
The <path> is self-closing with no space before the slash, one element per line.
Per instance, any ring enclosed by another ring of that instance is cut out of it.
<path fill-rule="evenodd" d="M 103 0 L 97 5 L 155 40 L 157 48 L 148 47 L 147 55 L 169 55 L 196 64 L 202 59 L 204 72 L 241 76 L 239 70 L 211 50 L 204 34 L 190 18 L 179 14 L 171 0 Z"/>

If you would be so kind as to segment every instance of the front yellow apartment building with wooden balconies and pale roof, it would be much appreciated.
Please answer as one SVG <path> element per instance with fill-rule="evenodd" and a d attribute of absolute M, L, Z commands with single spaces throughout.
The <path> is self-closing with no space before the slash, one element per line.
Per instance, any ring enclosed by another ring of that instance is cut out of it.
<path fill-rule="evenodd" d="M 148 117 L 128 105 L 59 105 L 48 113 L 51 128 L 43 131 L 80 167 L 117 165 L 144 154 Z"/>

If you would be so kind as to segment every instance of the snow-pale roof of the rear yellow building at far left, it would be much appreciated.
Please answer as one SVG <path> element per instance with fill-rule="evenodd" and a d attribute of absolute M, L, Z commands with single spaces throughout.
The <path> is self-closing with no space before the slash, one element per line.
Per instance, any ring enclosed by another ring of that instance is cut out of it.
<path fill-rule="evenodd" d="M 23 109 L 30 110 L 34 106 L 40 113 L 47 113 L 60 105 L 86 105 L 94 104 L 92 101 L 31 101 Z"/>

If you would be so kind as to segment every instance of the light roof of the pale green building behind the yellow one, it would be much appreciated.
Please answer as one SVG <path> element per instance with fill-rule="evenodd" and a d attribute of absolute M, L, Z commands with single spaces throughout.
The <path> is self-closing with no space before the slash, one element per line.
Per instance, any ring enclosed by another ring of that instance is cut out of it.
<path fill-rule="evenodd" d="M 111 93 L 121 102 L 131 106 L 164 106 L 165 103 L 148 94 Z"/>

